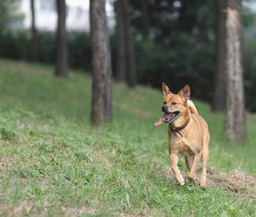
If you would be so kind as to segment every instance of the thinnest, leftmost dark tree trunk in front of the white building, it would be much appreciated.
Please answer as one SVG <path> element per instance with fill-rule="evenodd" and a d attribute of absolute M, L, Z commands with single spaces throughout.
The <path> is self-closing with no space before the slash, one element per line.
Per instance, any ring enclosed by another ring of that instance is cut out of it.
<path fill-rule="evenodd" d="M 35 18 L 35 4 L 34 0 L 30 0 L 30 7 L 31 7 L 31 15 L 32 15 L 32 22 L 31 22 L 31 35 L 32 35 L 32 60 L 38 61 L 38 41 L 37 41 L 37 29 L 36 29 L 36 18 Z"/>

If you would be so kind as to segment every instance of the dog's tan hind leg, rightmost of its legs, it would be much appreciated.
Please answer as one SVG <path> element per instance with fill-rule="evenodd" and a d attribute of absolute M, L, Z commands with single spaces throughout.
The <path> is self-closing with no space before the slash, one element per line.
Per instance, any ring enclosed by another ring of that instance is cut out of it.
<path fill-rule="evenodd" d="M 203 153 L 202 153 L 202 174 L 200 179 L 200 186 L 206 186 L 206 174 L 207 174 L 207 162 L 208 162 L 208 155 L 209 155 L 209 141 L 210 141 L 210 135 L 207 133 L 205 135 L 205 138 L 203 138 Z"/>

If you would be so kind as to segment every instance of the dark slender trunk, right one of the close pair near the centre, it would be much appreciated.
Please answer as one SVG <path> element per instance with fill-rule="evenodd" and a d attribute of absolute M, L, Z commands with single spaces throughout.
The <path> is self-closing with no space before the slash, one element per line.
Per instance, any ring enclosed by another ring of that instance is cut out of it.
<path fill-rule="evenodd" d="M 127 60 L 127 84 L 134 87 L 137 84 L 134 44 L 131 34 L 131 22 L 129 16 L 129 0 L 124 1 L 124 24 L 125 24 L 125 41 L 126 41 L 126 60 Z"/>

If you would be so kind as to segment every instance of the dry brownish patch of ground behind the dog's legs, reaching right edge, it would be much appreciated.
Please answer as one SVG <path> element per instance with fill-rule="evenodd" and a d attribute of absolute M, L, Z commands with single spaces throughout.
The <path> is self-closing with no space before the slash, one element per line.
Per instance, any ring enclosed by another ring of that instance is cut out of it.
<path fill-rule="evenodd" d="M 199 170 L 197 173 L 199 178 L 200 174 L 201 171 Z M 167 180 L 175 179 L 169 167 L 166 168 L 164 176 Z M 188 173 L 183 173 L 184 178 L 187 176 Z M 241 193 L 241 195 L 247 199 L 256 200 L 256 178 L 243 171 L 234 170 L 230 173 L 224 173 L 208 168 L 206 185 L 224 187 L 229 189 L 233 194 Z"/>

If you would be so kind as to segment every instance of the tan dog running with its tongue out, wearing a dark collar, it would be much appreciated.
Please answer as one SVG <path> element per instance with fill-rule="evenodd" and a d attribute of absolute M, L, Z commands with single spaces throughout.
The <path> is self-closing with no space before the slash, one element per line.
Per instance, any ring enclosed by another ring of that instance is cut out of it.
<path fill-rule="evenodd" d="M 190 86 L 187 84 L 178 94 L 170 92 L 169 88 L 162 83 L 163 92 L 163 116 L 155 122 L 159 126 L 163 122 L 169 125 L 169 153 L 171 169 L 180 185 L 185 181 L 182 173 L 177 167 L 178 153 L 185 156 L 186 165 L 189 170 L 188 179 L 196 185 L 206 185 L 206 169 L 208 161 L 208 144 L 210 134 L 205 120 L 190 98 Z M 196 177 L 198 163 L 202 157 L 203 169 L 200 183 Z"/>

